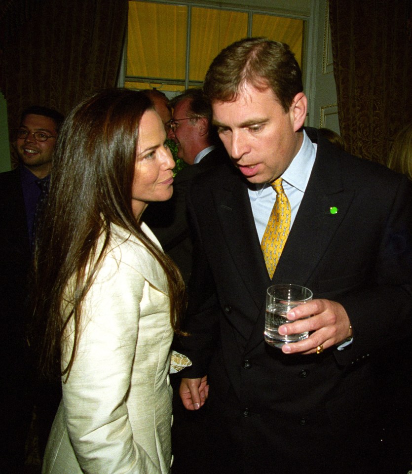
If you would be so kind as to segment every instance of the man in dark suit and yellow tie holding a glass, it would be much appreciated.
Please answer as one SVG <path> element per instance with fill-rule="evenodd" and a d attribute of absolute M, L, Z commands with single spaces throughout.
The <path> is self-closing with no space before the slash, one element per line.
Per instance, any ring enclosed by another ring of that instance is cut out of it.
<path fill-rule="evenodd" d="M 207 413 L 213 446 L 202 472 L 395 473 L 375 361 L 411 334 L 411 183 L 303 128 L 307 101 L 287 45 L 228 46 L 204 92 L 234 166 L 203 173 L 188 191 L 195 244 L 183 344 L 192 366 L 180 394 L 188 410 Z M 279 178 L 290 228 L 269 276 L 261 242 Z M 281 349 L 263 339 L 265 293 L 276 283 L 314 297 L 279 328 L 308 338 Z"/>

